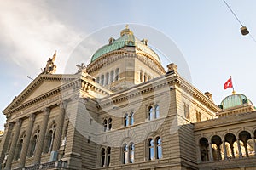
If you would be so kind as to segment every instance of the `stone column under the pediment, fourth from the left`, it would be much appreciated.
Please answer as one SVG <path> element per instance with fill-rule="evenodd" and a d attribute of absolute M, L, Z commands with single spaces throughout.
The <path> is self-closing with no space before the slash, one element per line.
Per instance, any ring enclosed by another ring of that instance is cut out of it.
<path fill-rule="evenodd" d="M 39 132 L 39 138 L 38 138 L 38 144 L 37 148 L 35 150 L 35 157 L 34 157 L 34 164 L 38 164 L 40 162 L 42 150 L 44 147 L 44 136 L 48 124 L 48 118 L 49 118 L 49 108 L 44 108 L 43 111 L 43 121 L 40 124 L 40 132 Z"/>

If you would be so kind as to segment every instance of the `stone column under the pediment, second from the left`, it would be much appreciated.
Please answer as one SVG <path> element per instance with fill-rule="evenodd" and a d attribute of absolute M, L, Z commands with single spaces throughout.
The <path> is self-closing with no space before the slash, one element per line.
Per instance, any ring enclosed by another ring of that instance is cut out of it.
<path fill-rule="evenodd" d="M 21 119 L 18 119 L 17 122 L 15 122 L 15 134 L 14 134 L 14 137 L 12 139 L 12 144 L 10 146 L 9 155 L 7 157 L 6 165 L 5 165 L 5 168 L 4 168 L 6 170 L 9 170 L 11 168 L 11 164 L 12 164 L 12 161 L 13 161 L 14 156 L 15 156 L 15 148 L 16 148 L 16 144 L 17 144 L 17 141 L 18 141 L 19 135 L 20 135 L 21 123 L 22 123 Z"/>

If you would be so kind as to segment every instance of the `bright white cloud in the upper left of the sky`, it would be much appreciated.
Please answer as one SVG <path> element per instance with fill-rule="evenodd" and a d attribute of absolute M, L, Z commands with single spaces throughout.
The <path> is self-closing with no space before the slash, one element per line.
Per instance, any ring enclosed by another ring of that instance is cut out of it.
<path fill-rule="evenodd" d="M 7 51 L 9 62 L 28 73 L 35 73 L 57 50 L 58 72 L 63 70 L 62 65 L 81 40 L 81 33 L 58 20 L 53 8 L 44 1 L 37 4 L 32 1 L 1 2 L 0 43 L 3 49 L 0 50 Z"/>

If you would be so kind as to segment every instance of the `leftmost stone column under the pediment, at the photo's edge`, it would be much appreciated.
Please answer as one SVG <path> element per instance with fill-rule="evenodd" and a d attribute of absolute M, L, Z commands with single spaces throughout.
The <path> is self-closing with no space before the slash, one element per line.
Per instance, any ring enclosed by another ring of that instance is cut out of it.
<path fill-rule="evenodd" d="M 13 123 L 11 123 L 11 122 L 6 123 L 4 125 L 3 139 L 0 144 L 0 169 L 1 169 L 1 164 L 3 163 L 6 151 L 8 149 L 9 139 L 11 136 L 12 129 L 13 129 Z"/>

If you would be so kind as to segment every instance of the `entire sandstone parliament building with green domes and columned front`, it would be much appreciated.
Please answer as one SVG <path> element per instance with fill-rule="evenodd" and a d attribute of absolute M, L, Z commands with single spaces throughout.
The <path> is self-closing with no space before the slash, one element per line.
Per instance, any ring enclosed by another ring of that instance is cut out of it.
<path fill-rule="evenodd" d="M 214 104 L 128 26 L 74 74 L 55 58 L 3 111 L 1 170 L 256 169 L 250 99 Z"/>

